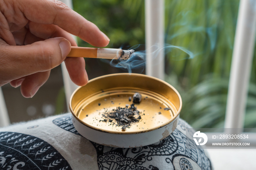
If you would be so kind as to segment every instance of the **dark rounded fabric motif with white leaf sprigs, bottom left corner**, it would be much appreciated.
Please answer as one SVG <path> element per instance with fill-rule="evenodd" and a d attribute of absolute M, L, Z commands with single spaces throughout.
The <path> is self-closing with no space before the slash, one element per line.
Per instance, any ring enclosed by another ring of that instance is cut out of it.
<path fill-rule="evenodd" d="M 0 132 L 1 170 L 71 170 L 49 143 L 34 136 Z"/>

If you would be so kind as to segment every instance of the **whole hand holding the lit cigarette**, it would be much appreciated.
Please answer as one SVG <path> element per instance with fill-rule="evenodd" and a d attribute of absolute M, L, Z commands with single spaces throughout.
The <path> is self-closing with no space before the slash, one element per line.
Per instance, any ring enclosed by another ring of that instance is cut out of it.
<path fill-rule="evenodd" d="M 50 70 L 65 61 L 71 80 L 86 85 L 83 58 L 67 57 L 77 46 L 69 34 L 93 46 L 109 38 L 95 24 L 57 0 L 0 0 L 0 86 L 10 82 L 24 97 L 33 97 Z"/>

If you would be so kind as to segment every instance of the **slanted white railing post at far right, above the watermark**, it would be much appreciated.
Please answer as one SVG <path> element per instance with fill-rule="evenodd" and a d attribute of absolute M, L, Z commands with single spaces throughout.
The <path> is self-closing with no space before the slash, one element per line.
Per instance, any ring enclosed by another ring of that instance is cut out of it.
<path fill-rule="evenodd" d="M 246 98 L 255 47 L 255 31 L 256 0 L 241 0 L 230 70 L 225 128 L 241 128 L 239 131 L 244 128 Z M 239 133 L 239 131 L 235 133 Z"/>

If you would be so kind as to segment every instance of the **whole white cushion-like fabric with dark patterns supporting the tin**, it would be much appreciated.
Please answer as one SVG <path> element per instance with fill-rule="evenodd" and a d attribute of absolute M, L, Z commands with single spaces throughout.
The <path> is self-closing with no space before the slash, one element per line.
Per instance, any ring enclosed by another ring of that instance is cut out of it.
<path fill-rule="evenodd" d="M 158 143 L 114 148 L 83 138 L 70 113 L 48 117 L 0 129 L 0 169 L 212 169 L 206 151 L 185 136 L 186 128 L 191 127 L 180 119 L 176 130 Z"/>

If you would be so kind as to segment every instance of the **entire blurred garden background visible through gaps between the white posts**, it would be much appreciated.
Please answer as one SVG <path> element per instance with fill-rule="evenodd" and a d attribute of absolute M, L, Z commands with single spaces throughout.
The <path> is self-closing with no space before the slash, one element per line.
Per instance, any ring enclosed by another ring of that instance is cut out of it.
<path fill-rule="evenodd" d="M 144 0 L 72 0 L 76 12 L 95 23 L 109 38 L 109 48 L 145 50 Z M 224 127 L 227 88 L 239 0 L 166 0 L 165 81 L 182 97 L 180 117 L 195 128 Z M 92 47 L 81 39 L 78 46 Z M 190 54 L 190 55 L 189 55 Z M 192 54 L 192 55 L 191 55 Z M 89 80 L 128 72 L 108 60 L 85 59 Z M 256 61 L 251 71 L 245 128 L 256 127 Z M 144 65 L 132 70 L 145 74 Z M 60 66 L 33 98 L 19 88 L 2 87 L 11 123 L 69 112 Z"/>

